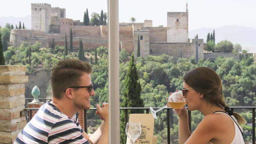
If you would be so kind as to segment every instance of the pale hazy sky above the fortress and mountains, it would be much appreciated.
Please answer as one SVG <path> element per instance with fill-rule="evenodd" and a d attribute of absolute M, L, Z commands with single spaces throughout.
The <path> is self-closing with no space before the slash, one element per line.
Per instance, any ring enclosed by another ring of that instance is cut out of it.
<path fill-rule="evenodd" d="M 189 31 L 202 27 L 224 25 L 256 28 L 256 0 L 187 0 Z M 83 20 L 89 14 L 107 12 L 106 0 L 10 0 L 1 1 L 0 17 L 25 17 L 31 15 L 31 3 L 49 3 L 51 7 L 66 8 L 66 18 Z M 167 12 L 186 11 L 186 0 L 119 0 L 119 22 L 153 20 L 153 26 L 167 25 Z"/>

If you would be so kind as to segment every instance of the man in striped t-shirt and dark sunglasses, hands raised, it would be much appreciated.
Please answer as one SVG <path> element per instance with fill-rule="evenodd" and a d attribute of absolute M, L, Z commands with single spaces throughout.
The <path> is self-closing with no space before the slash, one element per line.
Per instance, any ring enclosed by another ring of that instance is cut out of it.
<path fill-rule="evenodd" d="M 108 104 L 97 104 L 96 113 L 104 120 L 91 136 L 81 128 L 75 113 L 90 109 L 95 95 L 90 64 L 78 59 L 59 61 L 51 70 L 52 100 L 40 107 L 19 133 L 14 143 L 107 144 L 109 138 Z"/>

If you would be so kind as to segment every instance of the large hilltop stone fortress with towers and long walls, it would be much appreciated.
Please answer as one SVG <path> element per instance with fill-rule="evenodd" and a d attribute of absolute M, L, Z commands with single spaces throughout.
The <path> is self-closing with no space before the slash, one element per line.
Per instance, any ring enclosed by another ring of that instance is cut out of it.
<path fill-rule="evenodd" d="M 153 27 L 152 20 L 143 23 L 120 23 L 119 45 L 131 54 L 137 53 L 138 36 L 140 39 L 140 54 L 167 54 L 174 57 L 199 59 L 214 59 L 219 55 L 239 59 L 239 55 L 231 53 L 204 53 L 203 39 L 189 39 L 188 37 L 188 9 L 186 12 L 167 12 L 167 27 Z M 83 40 L 84 49 L 95 49 L 99 46 L 107 47 L 108 29 L 105 25 L 83 26 L 80 20 L 66 18 L 65 8 L 51 7 L 47 3 L 31 3 L 31 30 L 13 29 L 10 33 L 10 44 L 17 47 L 23 42 L 42 43 L 43 47 L 51 47 L 54 38 L 55 45 L 64 46 L 65 33 L 73 34 L 73 49 L 78 50 L 79 37 Z M 69 45 L 69 38 L 68 45 Z M 247 54 L 248 55 L 248 54 Z M 255 57 L 255 54 L 249 54 Z M 136 55 L 135 55 L 136 58 Z"/>

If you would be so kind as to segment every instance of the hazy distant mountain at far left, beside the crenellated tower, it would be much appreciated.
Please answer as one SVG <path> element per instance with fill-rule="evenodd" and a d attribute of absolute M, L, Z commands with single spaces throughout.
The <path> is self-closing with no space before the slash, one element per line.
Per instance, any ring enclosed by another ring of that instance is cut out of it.
<path fill-rule="evenodd" d="M 26 17 L 0 17 L 0 26 L 5 26 L 6 23 L 13 24 L 15 28 L 15 24 L 19 27 L 19 21 L 22 23 L 24 22 L 24 26 L 27 29 L 31 29 L 31 15 L 27 15 Z"/>

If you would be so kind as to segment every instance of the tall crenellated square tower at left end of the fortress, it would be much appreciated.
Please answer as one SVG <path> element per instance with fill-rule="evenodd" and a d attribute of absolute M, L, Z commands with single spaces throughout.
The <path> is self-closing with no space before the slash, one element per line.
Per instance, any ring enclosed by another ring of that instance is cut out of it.
<path fill-rule="evenodd" d="M 31 3 L 32 30 L 49 33 L 51 24 L 51 5 L 47 3 Z"/>

